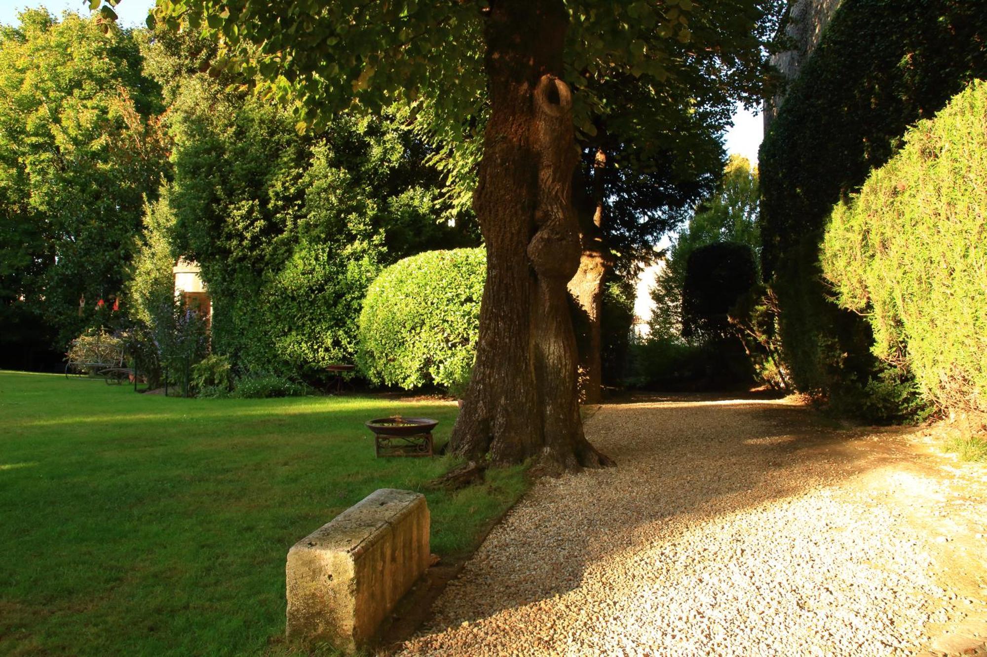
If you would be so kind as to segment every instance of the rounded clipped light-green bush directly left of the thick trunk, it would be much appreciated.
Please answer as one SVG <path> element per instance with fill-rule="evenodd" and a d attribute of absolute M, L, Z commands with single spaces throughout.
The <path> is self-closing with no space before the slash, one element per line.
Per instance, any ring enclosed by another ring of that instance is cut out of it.
<path fill-rule="evenodd" d="M 486 271 L 483 249 L 425 252 L 384 269 L 360 313 L 356 363 L 363 375 L 407 390 L 468 377 Z"/>

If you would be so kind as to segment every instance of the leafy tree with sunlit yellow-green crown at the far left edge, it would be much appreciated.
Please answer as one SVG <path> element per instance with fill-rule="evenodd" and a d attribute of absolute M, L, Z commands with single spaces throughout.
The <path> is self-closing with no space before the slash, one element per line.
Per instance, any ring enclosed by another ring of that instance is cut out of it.
<path fill-rule="evenodd" d="M 165 166 L 160 98 L 130 32 L 20 18 L 0 27 L 0 323 L 39 316 L 64 345 L 122 289 Z"/>

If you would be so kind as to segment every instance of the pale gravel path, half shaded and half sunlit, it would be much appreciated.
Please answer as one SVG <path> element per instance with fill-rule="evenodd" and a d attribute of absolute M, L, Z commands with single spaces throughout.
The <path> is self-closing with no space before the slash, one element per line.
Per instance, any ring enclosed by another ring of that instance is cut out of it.
<path fill-rule="evenodd" d="M 930 627 L 987 619 L 987 596 L 942 586 L 951 539 L 894 503 L 938 483 L 900 431 L 663 401 L 602 406 L 586 432 L 619 467 L 539 481 L 406 654 L 914 654 Z"/>

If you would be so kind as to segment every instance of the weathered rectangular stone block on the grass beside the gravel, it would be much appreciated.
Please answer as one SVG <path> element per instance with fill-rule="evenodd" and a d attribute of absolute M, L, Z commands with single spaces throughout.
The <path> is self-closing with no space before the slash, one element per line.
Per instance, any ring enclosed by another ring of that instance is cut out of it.
<path fill-rule="evenodd" d="M 429 563 L 423 495 L 381 488 L 291 547 L 289 639 L 352 652 L 373 637 Z"/>

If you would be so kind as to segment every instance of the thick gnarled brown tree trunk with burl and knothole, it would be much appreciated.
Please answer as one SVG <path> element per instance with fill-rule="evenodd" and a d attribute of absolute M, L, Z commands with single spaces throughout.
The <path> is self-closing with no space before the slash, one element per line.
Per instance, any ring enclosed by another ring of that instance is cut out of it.
<path fill-rule="evenodd" d="M 542 472 L 610 465 L 586 441 L 566 284 L 579 262 L 571 204 L 578 154 L 563 68 L 561 0 L 492 0 L 491 117 L 474 197 L 487 283 L 473 378 L 455 453 L 494 463 L 529 457 Z"/>

